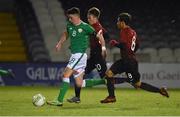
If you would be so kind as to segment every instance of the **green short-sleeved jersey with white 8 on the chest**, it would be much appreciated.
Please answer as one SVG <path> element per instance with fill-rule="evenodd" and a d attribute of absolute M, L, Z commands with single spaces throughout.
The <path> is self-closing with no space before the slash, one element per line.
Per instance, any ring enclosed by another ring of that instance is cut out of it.
<path fill-rule="evenodd" d="M 89 24 L 81 22 L 75 26 L 72 23 L 67 23 L 67 33 L 70 38 L 71 53 L 85 53 L 89 46 L 90 35 L 95 31 Z"/>

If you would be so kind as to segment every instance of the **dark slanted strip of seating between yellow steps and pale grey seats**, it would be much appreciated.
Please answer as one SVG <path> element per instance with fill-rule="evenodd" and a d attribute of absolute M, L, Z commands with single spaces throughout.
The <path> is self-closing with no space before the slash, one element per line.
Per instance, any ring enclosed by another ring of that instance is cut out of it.
<path fill-rule="evenodd" d="M 41 4 L 40 6 L 43 6 L 42 2 L 42 0 L 38 0 L 37 4 Z M 44 12 L 44 9 L 41 9 L 41 11 Z M 37 22 L 37 17 L 35 15 L 34 9 L 32 8 L 31 2 L 28 0 L 16 1 L 16 15 L 18 16 L 17 21 L 20 26 L 20 31 L 28 48 L 30 61 L 51 61 L 49 53 L 44 44 L 41 30 L 39 28 L 39 23 Z M 42 57 L 37 56 L 42 54 L 46 57 L 41 60 Z"/>

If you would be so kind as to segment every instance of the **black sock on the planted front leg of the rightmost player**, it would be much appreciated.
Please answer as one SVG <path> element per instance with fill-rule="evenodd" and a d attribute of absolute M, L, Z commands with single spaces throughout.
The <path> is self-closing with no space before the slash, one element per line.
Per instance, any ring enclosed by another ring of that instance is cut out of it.
<path fill-rule="evenodd" d="M 108 93 L 109 96 L 114 97 L 114 84 L 111 81 L 111 78 L 107 78 L 107 89 L 108 89 Z"/>

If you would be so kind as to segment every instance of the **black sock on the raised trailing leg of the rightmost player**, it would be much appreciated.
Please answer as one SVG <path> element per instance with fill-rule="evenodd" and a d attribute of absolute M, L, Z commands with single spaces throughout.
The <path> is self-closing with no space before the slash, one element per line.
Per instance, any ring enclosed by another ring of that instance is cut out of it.
<path fill-rule="evenodd" d="M 150 84 L 147 84 L 147 83 L 144 83 L 144 82 L 141 83 L 140 88 L 144 89 L 146 91 L 150 91 L 150 92 L 155 92 L 155 93 L 159 93 L 160 92 L 159 88 L 154 87 L 154 86 L 152 86 Z"/>

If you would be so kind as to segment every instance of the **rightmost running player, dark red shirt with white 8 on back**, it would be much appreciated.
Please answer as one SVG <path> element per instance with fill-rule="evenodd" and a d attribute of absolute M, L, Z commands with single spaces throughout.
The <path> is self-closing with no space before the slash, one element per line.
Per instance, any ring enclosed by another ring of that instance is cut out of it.
<path fill-rule="evenodd" d="M 141 88 L 146 91 L 160 93 L 163 96 L 169 97 L 165 88 L 157 88 L 152 85 L 140 81 L 140 73 L 138 71 L 138 62 L 136 60 L 135 52 L 139 47 L 139 40 L 137 38 L 136 32 L 129 26 L 131 21 L 131 15 L 128 13 L 121 13 L 118 16 L 117 27 L 120 31 L 120 39 L 118 41 L 111 40 L 110 44 L 112 46 L 120 48 L 121 59 L 117 60 L 111 68 L 106 72 L 106 79 L 112 80 L 109 82 L 108 92 L 109 96 L 101 103 L 115 102 L 116 98 L 114 95 L 114 85 L 113 83 L 123 83 L 128 82 L 135 88 Z M 113 78 L 116 74 L 121 74 L 125 72 L 127 78 Z"/>

